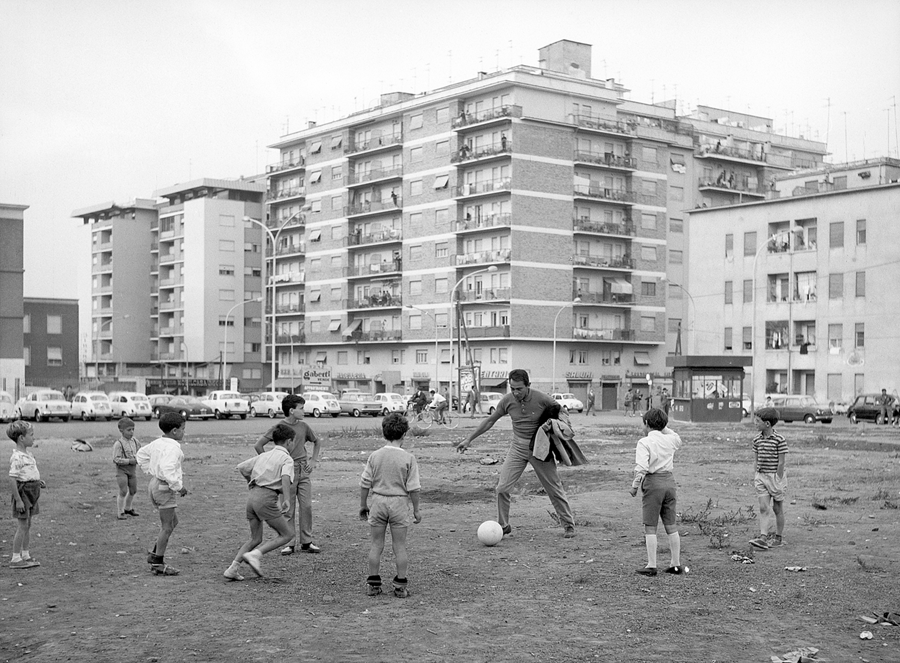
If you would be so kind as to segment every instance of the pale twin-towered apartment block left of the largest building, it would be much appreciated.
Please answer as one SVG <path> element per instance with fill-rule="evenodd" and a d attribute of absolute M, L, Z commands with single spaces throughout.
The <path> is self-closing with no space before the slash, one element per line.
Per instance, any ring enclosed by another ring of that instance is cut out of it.
<path fill-rule="evenodd" d="M 268 382 L 264 193 L 254 181 L 203 178 L 73 212 L 91 225 L 88 383 L 205 394 L 223 377 L 247 391 Z"/>

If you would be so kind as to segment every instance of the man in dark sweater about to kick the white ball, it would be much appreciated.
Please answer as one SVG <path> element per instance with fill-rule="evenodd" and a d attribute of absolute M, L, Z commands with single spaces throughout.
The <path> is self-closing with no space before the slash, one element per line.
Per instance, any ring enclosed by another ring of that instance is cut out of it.
<path fill-rule="evenodd" d="M 566 491 L 556 470 L 556 461 L 552 454 L 546 459 L 541 459 L 532 453 L 538 428 L 543 427 L 547 430 L 551 426 L 550 419 L 557 419 L 568 426 L 569 416 L 553 398 L 532 389 L 530 385 L 531 381 L 526 371 L 521 368 L 510 371 L 510 393 L 500 399 L 492 415 L 456 445 L 456 450 L 463 453 L 475 439 L 489 431 L 500 417 L 509 415 L 512 420 L 513 441 L 500 468 L 500 480 L 496 488 L 497 521 L 503 528 L 503 535 L 507 536 L 512 532 L 512 526 L 509 524 L 509 492 L 530 463 L 553 508 L 556 509 L 556 515 L 565 527 L 565 537 L 571 539 L 575 536 L 575 516 L 572 514 L 572 507 L 569 506 Z"/>

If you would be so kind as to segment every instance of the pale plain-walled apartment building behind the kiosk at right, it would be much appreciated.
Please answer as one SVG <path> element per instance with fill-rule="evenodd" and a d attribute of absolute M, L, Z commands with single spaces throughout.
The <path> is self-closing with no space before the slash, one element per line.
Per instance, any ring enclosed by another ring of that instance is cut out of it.
<path fill-rule="evenodd" d="M 900 280 L 894 217 L 900 160 L 880 158 L 780 176 L 770 198 L 691 212 L 692 324 L 700 354 L 753 358 L 766 392 L 850 401 L 900 388 Z"/>

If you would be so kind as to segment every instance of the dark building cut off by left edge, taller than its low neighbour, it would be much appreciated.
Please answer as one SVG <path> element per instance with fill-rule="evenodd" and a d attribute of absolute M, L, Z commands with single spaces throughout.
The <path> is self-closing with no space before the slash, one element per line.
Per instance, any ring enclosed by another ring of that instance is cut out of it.
<path fill-rule="evenodd" d="M 0 391 L 14 401 L 25 395 L 22 249 L 27 209 L 0 203 Z"/>

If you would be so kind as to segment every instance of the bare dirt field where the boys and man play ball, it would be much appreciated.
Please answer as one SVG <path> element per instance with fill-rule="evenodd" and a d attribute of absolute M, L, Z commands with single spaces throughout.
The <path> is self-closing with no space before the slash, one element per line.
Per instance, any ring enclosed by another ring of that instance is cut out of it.
<path fill-rule="evenodd" d="M 357 481 L 381 444 L 376 420 L 324 434 L 313 476 L 323 553 L 267 555 L 267 577 L 245 582 L 222 571 L 247 535 L 246 487 L 233 468 L 252 454 L 255 435 L 204 438 L 189 427 L 191 494 L 179 500 L 168 560 L 181 575 L 166 578 L 145 562 L 157 522 L 146 477 L 140 517 L 117 521 L 112 439 L 79 454 L 39 434 L 34 453 L 48 487 L 31 550 L 42 566 L 7 567 L 14 522 L 6 506 L 0 660 L 768 663 L 816 647 L 821 661 L 900 661 L 900 627 L 860 619 L 900 612 L 896 433 L 782 425 L 787 545 L 754 552 L 746 543 L 757 531 L 752 426 L 678 425 L 682 557 L 691 571 L 644 578 L 634 573 L 645 562 L 640 498 L 628 494 L 636 420 L 586 421 L 575 423 L 591 464 L 562 470 L 578 537 L 562 538 L 528 471 L 513 500 L 513 536 L 493 548 L 474 533 L 496 518 L 499 465 L 479 460 L 502 460 L 508 430 L 491 431 L 464 456 L 449 444 L 461 431 L 413 438 L 424 519 L 409 536 L 405 600 L 364 591 L 368 532 L 356 519 Z M 664 567 L 662 528 L 659 541 Z M 733 561 L 733 552 L 754 563 Z M 785 570 L 794 566 L 806 570 Z M 388 546 L 382 577 L 393 574 Z M 861 640 L 863 631 L 874 637 Z"/>

